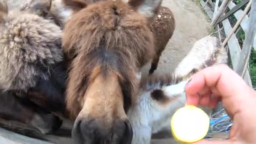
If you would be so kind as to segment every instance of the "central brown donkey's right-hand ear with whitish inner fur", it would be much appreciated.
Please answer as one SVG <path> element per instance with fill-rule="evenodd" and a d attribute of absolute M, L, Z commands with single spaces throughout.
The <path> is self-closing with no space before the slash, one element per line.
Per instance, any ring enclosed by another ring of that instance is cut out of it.
<path fill-rule="evenodd" d="M 163 0 L 129 0 L 131 5 L 138 13 L 144 14 L 147 18 L 152 18 L 158 11 Z"/>

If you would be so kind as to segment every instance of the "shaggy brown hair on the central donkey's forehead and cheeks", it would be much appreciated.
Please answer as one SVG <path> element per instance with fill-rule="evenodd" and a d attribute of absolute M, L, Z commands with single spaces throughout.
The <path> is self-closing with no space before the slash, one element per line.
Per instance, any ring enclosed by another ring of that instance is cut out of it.
<path fill-rule="evenodd" d="M 110 0 L 75 13 L 65 27 L 63 48 L 75 57 L 67 88 L 67 107 L 71 113 L 80 112 L 76 103 L 93 77 L 107 76 L 109 72 L 118 75 L 125 103 L 131 103 L 139 85 L 136 72 L 154 54 L 147 20 L 127 4 Z M 95 70 L 96 67 L 100 69 Z"/>

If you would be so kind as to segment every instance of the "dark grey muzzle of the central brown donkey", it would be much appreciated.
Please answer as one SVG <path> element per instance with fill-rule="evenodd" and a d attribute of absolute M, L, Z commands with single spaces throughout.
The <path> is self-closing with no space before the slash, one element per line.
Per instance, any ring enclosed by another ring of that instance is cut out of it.
<path fill-rule="evenodd" d="M 76 120 L 72 129 L 75 144 L 131 144 L 133 130 L 128 120 L 116 120 L 112 126 L 97 119 Z"/>

